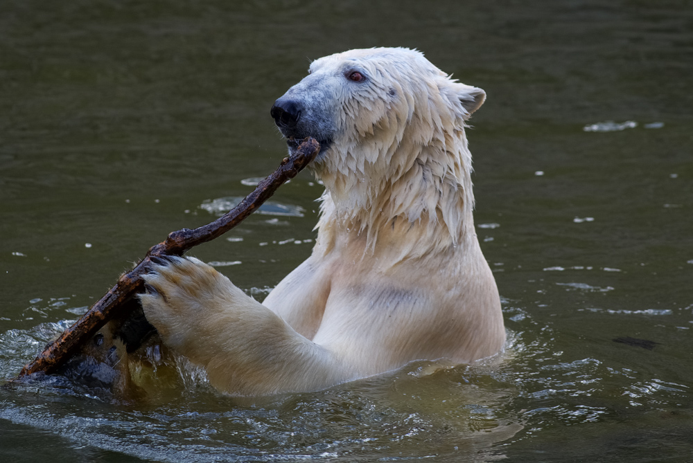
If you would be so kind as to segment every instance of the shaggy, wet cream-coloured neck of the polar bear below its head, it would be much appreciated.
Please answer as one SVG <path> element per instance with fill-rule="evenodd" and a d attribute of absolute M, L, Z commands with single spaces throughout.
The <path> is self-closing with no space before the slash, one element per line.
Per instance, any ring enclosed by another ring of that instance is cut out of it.
<path fill-rule="evenodd" d="M 361 138 L 351 149 L 331 149 L 316 169 L 326 187 L 317 224 L 325 249 L 351 242 L 373 253 L 395 234 L 401 260 L 468 244 L 471 153 L 457 127 L 433 131 L 426 143 L 403 130 L 389 146 Z"/>

